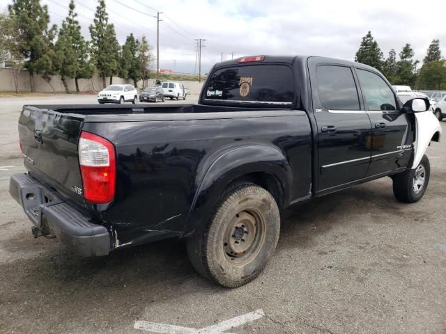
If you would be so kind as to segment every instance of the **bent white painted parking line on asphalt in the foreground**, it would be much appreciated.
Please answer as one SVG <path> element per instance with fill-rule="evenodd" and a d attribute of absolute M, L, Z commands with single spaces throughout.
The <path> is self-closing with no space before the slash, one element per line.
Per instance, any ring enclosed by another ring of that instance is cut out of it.
<path fill-rule="evenodd" d="M 201 329 L 195 329 L 183 326 L 174 326 L 169 324 L 158 324 L 148 321 L 135 321 L 134 329 L 140 329 L 141 331 L 147 331 L 157 334 L 231 334 L 223 333 L 234 327 L 241 326 L 247 322 L 251 322 L 263 317 L 265 313 L 262 309 L 255 310 L 254 312 L 246 313 L 232 319 L 224 320 L 218 324 L 207 326 Z"/>

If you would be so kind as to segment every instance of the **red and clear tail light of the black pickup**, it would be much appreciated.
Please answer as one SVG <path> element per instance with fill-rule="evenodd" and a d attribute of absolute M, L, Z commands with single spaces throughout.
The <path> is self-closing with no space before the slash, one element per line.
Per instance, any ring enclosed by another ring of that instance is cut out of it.
<path fill-rule="evenodd" d="M 111 202 L 116 186 L 114 145 L 95 134 L 81 132 L 79 164 L 84 198 L 98 204 Z"/>

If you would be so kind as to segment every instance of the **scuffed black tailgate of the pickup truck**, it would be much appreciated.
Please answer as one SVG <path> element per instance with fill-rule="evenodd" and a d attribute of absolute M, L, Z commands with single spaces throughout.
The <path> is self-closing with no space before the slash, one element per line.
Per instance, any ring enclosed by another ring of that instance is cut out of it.
<path fill-rule="evenodd" d="M 24 165 L 40 182 L 84 203 L 77 144 L 84 116 L 24 106 L 19 136 Z"/>

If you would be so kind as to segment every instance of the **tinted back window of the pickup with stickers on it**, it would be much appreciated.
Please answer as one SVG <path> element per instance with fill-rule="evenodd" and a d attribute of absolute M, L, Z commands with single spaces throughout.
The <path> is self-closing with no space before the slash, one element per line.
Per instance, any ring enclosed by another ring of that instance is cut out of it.
<path fill-rule="evenodd" d="M 205 99 L 231 102 L 293 102 L 293 72 L 286 65 L 241 65 L 213 72 Z"/>

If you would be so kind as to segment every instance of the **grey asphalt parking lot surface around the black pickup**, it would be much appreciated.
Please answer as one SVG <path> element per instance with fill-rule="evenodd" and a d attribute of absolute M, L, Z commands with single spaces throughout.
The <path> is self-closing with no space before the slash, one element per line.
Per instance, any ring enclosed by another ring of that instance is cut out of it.
<path fill-rule="evenodd" d="M 20 108 L 88 102 L 0 99 L 0 333 L 144 333 L 137 320 L 203 328 L 258 309 L 265 317 L 231 333 L 446 333 L 445 140 L 428 149 L 420 202 L 397 202 L 386 177 L 295 205 L 266 270 L 226 289 L 194 271 L 182 241 L 82 258 L 33 239 L 8 194 L 10 175 L 24 171 Z"/>

